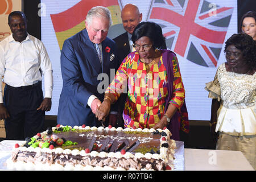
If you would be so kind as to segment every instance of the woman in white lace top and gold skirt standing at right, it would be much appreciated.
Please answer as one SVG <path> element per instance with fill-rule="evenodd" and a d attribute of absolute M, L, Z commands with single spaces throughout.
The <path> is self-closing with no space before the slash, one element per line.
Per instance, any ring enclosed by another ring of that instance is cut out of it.
<path fill-rule="evenodd" d="M 216 150 L 239 150 L 256 169 L 256 46 L 245 33 L 225 44 L 226 63 L 205 87 L 212 98 L 211 131 L 218 133 Z"/>

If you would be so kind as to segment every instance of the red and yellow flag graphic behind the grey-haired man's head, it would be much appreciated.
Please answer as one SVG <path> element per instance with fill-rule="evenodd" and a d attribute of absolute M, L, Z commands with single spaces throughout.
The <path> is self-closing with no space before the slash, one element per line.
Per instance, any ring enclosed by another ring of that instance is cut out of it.
<path fill-rule="evenodd" d="M 90 9 L 94 6 L 104 6 L 110 10 L 113 24 L 121 23 L 121 11 L 118 0 L 81 0 L 70 9 L 58 14 L 51 14 L 53 28 L 62 49 L 64 40 L 75 35 L 85 28 L 84 20 Z"/>

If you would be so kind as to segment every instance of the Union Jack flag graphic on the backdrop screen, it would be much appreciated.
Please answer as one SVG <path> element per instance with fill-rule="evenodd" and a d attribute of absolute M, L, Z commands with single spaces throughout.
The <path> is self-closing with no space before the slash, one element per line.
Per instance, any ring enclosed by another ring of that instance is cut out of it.
<path fill-rule="evenodd" d="M 152 0 L 147 20 L 158 23 L 167 47 L 193 63 L 216 67 L 233 7 L 205 0 Z"/>

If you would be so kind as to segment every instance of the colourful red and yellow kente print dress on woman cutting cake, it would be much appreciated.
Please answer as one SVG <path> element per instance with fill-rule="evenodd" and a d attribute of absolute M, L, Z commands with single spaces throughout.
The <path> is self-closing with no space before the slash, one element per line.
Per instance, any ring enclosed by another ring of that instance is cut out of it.
<path fill-rule="evenodd" d="M 183 105 L 185 90 L 181 80 L 177 58 L 172 60 L 174 72 L 173 93 L 170 104 L 180 109 Z M 164 114 L 167 91 L 167 72 L 162 56 L 157 64 L 146 72 L 145 64 L 139 60 L 137 52 L 131 52 L 120 65 L 114 80 L 105 93 L 113 93 L 115 101 L 121 95 L 125 86 L 129 90 L 123 110 L 125 127 L 140 127 L 142 129 L 155 126 Z"/>

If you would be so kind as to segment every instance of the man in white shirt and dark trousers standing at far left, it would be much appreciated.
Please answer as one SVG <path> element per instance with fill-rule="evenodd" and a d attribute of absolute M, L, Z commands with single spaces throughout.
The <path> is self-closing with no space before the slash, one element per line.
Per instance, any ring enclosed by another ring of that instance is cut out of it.
<path fill-rule="evenodd" d="M 5 119 L 6 139 L 24 140 L 42 132 L 45 111 L 51 109 L 52 65 L 43 43 L 27 33 L 21 11 L 9 15 L 12 34 L 0 42 L 0 119 Z M 42 91 L 44 75 L 45 97 Z"/>

